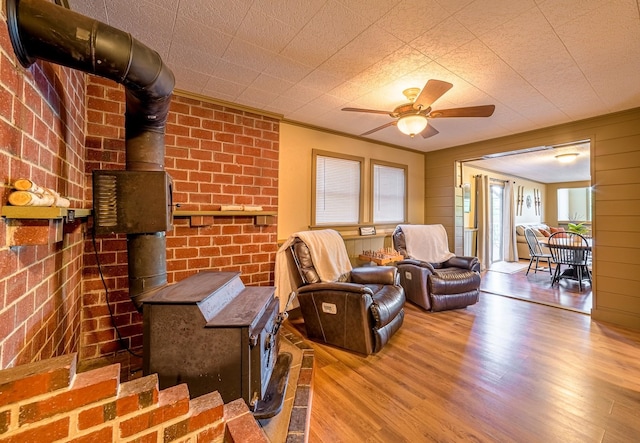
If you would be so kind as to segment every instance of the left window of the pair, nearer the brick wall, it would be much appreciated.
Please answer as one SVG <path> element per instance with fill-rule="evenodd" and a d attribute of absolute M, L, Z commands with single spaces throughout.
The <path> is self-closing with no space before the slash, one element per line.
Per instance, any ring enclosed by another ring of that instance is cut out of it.
<path fill-rule="evenodd" d="M 312 224 L 359 224 L 364 159 L 313 151 Z"/>

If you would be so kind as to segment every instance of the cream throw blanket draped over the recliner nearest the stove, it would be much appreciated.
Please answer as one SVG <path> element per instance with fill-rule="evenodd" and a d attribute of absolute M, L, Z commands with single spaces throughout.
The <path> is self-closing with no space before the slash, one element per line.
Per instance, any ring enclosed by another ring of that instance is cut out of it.
<path fill-rule="evenodd" d="M 292 234 L 276 253 L 275 284 L 280 299 L 280 311 L 286 308 L 287 300 L 296 287 L 298 269 L 287 260 L 287 249 L 299 238 L 309 247 L 311 260 L 320 281 L 333 282 L 342 274 L 351 271 L 351 262 L 342 237 L 333 229 L 301 231 Z M 292 306 L 295 307 L 295 306 Z"/>

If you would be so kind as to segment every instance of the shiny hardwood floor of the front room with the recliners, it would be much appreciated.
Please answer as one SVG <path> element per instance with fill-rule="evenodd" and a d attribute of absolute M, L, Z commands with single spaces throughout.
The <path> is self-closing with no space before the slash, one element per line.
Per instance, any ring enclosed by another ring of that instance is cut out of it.
<path fill-rule="evenodd" d="M 640 332 L 587 315 L 482 293 L 375 355 L 307 343 L 310 443 L 640 441 Z"/>

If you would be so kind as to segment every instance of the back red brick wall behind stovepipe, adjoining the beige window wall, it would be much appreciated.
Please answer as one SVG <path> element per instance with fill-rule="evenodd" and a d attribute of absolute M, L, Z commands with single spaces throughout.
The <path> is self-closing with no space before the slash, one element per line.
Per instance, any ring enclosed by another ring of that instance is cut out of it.
<path fill-rule="evenodd" d="M 87 79 L 86 173 L 124 169 L 124 90 L 110 80 Z M 218 210 L 220 205 L 278 205 L 279 122 L 220 105 L 174 96 L 166 128 L 165 168 L 173 178 L 179 210 Z M 90 190 L 86 198 L 91 197 Z M 277 226 L 255 226 L 253 217 L 205 217 L 192 226 L 174 219 L 167 233 L 168 281 L 199 270 L 239 271 L 246 285 L 272 285 Z M 128 297 L 124 235 L 96 239 L 114 319 L 126 346 L 142 345 L 141 316 Z M 118 351 L 105 292 L 93 255 L 85 245 L 82 359 Z"/>

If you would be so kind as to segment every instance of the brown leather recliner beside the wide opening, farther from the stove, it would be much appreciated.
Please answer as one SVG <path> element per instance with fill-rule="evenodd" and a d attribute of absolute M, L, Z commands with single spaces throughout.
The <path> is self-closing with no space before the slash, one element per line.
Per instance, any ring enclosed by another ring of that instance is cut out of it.
<path fill-rule="evenodd" d="M 454 256 L 441 263 L 412 258 L 400 226 L 393 232 L 393 245 L 405 257 L 396 266 L 407 300 L 428 311 L 460 309 L 477 303 L 480 293 L 477 257 Z"/>

